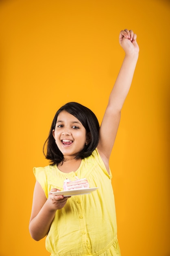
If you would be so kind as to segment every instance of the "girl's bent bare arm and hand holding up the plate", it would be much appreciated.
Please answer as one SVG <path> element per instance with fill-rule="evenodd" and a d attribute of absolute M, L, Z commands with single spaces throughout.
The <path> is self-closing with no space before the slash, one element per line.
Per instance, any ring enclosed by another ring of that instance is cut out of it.
<path fill-rule="evenodd" d="M 52 189 L 50 192 L 52 191 L 57 191 L 57 189 Z M 33 239 L 38 241 L 48 234 L 56 211 L 63 208 L 67 200 L 68 197 L 53 195 L 51 193 L 49 193 L 47 199 L 39 182 L 35 183 L 29 224 L 29 231 Z"/>

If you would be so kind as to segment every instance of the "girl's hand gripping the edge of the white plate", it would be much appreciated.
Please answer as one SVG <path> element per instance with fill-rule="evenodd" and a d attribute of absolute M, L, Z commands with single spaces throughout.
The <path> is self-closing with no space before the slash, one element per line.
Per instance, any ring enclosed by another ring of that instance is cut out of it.
<path fill-rule="evenodd" d="M 49 194 L 48 194 L 48 204 L 50 204 L 50 207 L 52 210 L 59 210 L 62 209 L 68 198 L 70 198 L 71 196 L 66 196 L 64 197 L 63 195 L 54 195 L 52 194 L 52 192 L 57 192 L 60 191 L 59 189 L 51 189 Z"/>

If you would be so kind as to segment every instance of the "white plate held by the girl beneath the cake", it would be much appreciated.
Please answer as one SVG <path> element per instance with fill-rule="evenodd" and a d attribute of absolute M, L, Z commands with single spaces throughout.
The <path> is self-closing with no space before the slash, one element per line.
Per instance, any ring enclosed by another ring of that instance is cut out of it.
<path fill-rule="evenodd" d="M 71 196 L 71 195 L 85 195 L 90 194 L 98 188 L 89 188 L 89 189 L 72 189 L 67 191 L 57 191 L 51 192 L 54 195 L 63 195 L 63 196 Z"/>

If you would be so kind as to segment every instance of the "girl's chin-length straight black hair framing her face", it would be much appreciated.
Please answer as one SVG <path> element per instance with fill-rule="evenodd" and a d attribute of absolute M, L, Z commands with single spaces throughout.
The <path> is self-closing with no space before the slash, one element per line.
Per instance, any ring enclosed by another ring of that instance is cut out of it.
<path fill-rule="evenodd" d="M 83 124 L 85 130 L 91 133 L 91 142 L 88 145 L 85 145 L 83 150 L 78 152 L 78 154 L 75 156 L 75 159 L 83 159 L 85 157 L 89 157 L 98 145 L 98 139 L 99 139 L 98 133 L 99 133 L 100 126 L 99 126 L 96 115 L 92 112 L 92 110 L 81 105 L 80 103 L 77 103 L 77 102 L 66 103 L 64 106 L 59 108 L 59 110 L 56 112 L 54 119 L 52 121 L 48 138 L 46 139 L 43 146 L 43 153 L 46 159 L 50 160 L 51 165 L 55 165 L 63 162 L 63 154 L 57 147 L 55 143 L 55 139 L 52 135 L 52 130 L 54 130 L 56 126 L 57 117 L 59 113 L 61 113 L 61 111 L 63 110 L 67 111 L 71 115 L 74 115 L 74 117 L 76 117 L 81 122 L 81 124 Z M 47 144 L 47 149 L 45 153 L 46 144 Z"/>

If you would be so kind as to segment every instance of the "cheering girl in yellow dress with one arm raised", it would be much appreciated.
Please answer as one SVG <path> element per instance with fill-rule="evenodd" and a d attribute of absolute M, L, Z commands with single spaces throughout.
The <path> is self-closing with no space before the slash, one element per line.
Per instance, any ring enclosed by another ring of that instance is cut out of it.
<path fill-rule="evenodd" d="M 125 57 L 100 128 L 94 113 L 75 102 L 61 107 L 52 121 L 46 141 L 51 164 L 34 168 L 29 225 L 33 239 L 46 236 L 51 256 L 120 256 L 109 157 L 137 63 L 136 37 L 132 30 L 120 32 Z M 99 189 L 72 197 L 52 193 L 63 190 L 66 178 L 76 176 Z"/>

